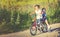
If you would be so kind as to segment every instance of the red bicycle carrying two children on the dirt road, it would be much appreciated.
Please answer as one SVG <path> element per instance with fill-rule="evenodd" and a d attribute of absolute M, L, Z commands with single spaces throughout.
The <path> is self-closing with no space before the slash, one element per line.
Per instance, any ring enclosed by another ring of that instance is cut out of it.
<path fill-rule="evenodd" d="M 35 28 L 34 28 L 35 27 Z M 45 24 L 44 21 L 40 20 L 40 24 L 37 24 L 36 21 L 32 22 L 31 26 L 30 26 L 30 33 L 31 35 L 36 35 L 37 30 L 40 31 L 40 33 L 44 33 L 47 32 L 47 25 Z"/>

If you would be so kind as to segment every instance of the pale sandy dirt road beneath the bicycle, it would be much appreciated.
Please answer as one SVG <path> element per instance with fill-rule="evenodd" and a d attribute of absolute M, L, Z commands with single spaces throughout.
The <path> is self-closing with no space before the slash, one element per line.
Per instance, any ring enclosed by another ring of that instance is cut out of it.
<path fill-rule="evenodd" d="M 2 34 L 0 37 L 60 37 L 60 23 L 52 24 L 50 25 L 52 32 L 46 32 L 46 33 L 37 33 L 35 36 L 32 36 L 30 34 L 29 29 L 10 33 L 10 34 Z"/>

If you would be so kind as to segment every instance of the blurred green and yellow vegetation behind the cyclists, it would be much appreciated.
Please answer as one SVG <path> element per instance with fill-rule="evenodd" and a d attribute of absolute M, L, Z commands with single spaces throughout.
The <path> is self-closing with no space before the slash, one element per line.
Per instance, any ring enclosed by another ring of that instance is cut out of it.
<path fill-rule="evenodd" d="M 35 4 L 46 8 L 50 24 L 60 23 L 60 0 L 0 0 L 0 34 L 28 29 Z"/>

